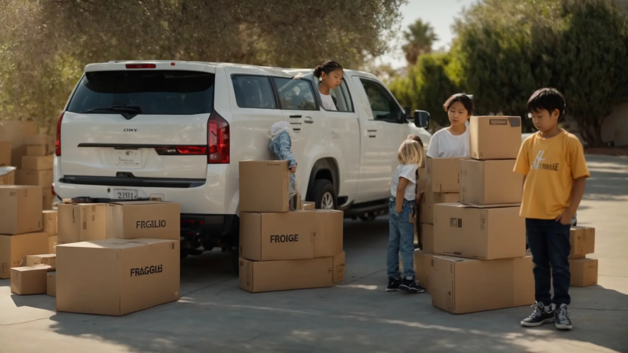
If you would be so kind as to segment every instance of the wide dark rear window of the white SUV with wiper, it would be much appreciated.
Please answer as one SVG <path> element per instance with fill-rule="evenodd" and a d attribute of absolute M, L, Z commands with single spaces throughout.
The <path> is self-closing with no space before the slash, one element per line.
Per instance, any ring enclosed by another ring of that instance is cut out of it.
<path fill-rule="evenodd" d="M 185 70 L 87 72 L 67 111 L 81 113 L 112 106 L 139 107 L 141 114 L 210 114 L 214 73 Z"/>

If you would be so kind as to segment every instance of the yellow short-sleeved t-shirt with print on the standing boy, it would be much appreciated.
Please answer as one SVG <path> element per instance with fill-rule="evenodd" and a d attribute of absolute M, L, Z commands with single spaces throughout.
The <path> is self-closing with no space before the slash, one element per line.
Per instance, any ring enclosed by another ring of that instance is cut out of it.
<path fill-rule="evenodd" d="M 519 215 L 534 219 L 558 218 L 570 205 L 573 180 L 590 176 L 582 143 L 565 130 L 552 138 L 538 132 L 526 138 L 514 171 L 526 175 Z"/>

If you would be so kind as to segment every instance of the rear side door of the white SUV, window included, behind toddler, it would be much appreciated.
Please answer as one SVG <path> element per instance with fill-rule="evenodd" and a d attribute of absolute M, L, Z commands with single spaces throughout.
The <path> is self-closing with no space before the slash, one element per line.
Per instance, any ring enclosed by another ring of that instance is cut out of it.
<path fill-rule="evenodd" d="M 305 196 L 310 170 L 315 162 L 316 144 L 325 140 L 325 118 L 310 80 L 273 77 L 284 121 L 292 126 L 292 153 L 295 155 L 298 190 Z"/>

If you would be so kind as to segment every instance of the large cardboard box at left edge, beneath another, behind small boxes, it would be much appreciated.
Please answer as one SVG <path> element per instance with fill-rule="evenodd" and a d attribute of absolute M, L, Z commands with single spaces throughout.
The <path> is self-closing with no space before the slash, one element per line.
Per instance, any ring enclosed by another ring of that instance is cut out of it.
<path fill-rule="evenodd" d="M 0 279 L 11 278 L 11 268 L 23 265 L 24 256 L 48 253 L 48 233 L 0 235 Z"/>

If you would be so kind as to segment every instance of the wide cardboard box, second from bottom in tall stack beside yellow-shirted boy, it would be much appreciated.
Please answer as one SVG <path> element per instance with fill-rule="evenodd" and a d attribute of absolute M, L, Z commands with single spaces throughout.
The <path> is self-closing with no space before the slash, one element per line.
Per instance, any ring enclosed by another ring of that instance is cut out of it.
<path fill-rule="evenodd" d="M 506 259 L 526 256 L 526 220 L 519 207 L 434 206 L 436 252 L 472 259 Z"/>

